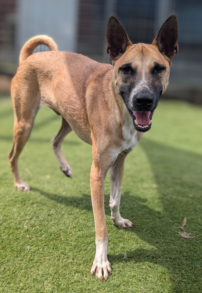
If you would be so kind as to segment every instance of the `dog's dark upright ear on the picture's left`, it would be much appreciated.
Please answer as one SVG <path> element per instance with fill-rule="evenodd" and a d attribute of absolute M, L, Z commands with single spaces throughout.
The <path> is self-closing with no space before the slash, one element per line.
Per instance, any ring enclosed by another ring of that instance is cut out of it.
<path fill-rule="evenodd" d="M 107 27 L 107 53 L 114 60 L 118 59 L 126 47 L 132 45 L 124 29 L 114 16 L 109 18 Z"/>

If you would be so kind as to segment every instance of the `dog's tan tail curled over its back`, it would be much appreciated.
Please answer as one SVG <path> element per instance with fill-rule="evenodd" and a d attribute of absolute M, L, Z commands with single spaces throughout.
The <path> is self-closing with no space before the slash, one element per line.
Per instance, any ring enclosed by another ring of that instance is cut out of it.
<path fill-rule="evenodd" d="M 52 38 L 46 35 L 38 35 L 29 39 L 20 52 L 20 64 L 29 57 L 38 45 L 46 45 L 51 51 L 57 51 L 57 45 Z"/>

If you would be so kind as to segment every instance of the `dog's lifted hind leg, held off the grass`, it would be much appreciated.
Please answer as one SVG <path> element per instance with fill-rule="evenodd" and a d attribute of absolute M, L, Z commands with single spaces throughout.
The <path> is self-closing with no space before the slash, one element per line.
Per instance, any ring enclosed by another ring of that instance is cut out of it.
<path fill-rule="evenodd" d="M 72 177 L 71 168 L 61 152 L 61 143 L 62 143 L 64 137 L 69 132 L 71 132 L 71 130 L 72 129 L 71 129 L 70 125 L 62 117 L 61 128 L 53 141 L 53 149 L 54 149 L 54 152 L 60 162 L 61 170 L 62 170 L 62 172 L 64 172 L 64 174 L 67 177 L 70 177 L 70 178 Z"/>

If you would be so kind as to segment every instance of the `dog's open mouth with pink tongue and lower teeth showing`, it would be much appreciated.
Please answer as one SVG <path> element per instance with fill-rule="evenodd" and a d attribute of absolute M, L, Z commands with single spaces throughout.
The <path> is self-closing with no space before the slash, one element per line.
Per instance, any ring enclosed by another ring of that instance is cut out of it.
<path fill-rule="evenodd" d="M 151 128 L 154 111 L 131 111 L 128 107 L 127 109 L 133 119 L 133 126 L 136 130 L 146 132 Z"/>

